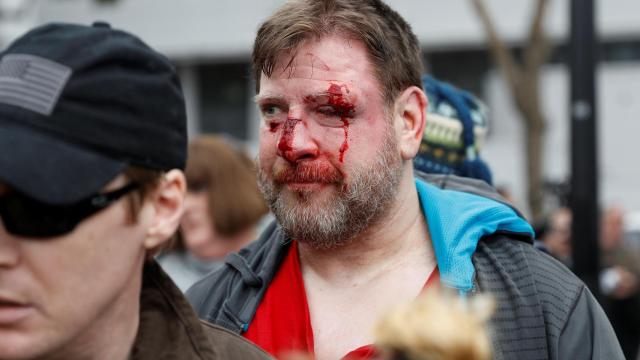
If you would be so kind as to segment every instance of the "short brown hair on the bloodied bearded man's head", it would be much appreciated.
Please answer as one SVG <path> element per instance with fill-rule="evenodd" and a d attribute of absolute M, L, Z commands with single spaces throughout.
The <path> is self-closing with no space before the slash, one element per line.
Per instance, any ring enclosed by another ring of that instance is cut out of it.
<path fill-rule="evenodd" d="M 258 30 L 252 54 L 256 93 L 260 75 L 273 74 L 278 57 L 295 55 L 310 39 L 344 34 L 362 41 L 387 105 L 409 86 L 422 88 L 418 39 L 411 26 L 380 0 L 298 0 L 278 9 Z M 287 64 L 291 66 L 293 58 Z"/>

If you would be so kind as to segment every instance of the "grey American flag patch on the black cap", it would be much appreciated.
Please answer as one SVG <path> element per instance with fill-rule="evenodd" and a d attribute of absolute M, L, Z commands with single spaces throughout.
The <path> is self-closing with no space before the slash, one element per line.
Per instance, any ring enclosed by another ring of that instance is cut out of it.
<path fill-rule="evenodd" d="M 68 66 L 27 54 L 9 54 L 0 61 L 0 103 L 51 115 L 71 76 Z"/>

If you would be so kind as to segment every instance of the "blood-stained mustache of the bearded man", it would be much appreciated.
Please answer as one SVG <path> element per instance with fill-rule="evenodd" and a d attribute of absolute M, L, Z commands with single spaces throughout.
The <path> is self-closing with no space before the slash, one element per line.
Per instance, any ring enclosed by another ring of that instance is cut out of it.
<path fill-rule="evenodd" d="M 276 183 L 340 183 L 343 176 L 331 164 L 327 163 L 297 163 L 295 166 L 283 165 L 276 167 L 273 172 Z"/>

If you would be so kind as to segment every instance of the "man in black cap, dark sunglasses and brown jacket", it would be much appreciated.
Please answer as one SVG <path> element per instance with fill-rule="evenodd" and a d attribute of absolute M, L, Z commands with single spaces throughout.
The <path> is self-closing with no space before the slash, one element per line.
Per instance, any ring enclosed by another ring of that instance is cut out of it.
<path fill-rule="evenodd" d="M 170 62 L 108 24 L 0 54 L 0 358 L 268 358 L 153 260 L 182 214 L 185 118 Z"/>

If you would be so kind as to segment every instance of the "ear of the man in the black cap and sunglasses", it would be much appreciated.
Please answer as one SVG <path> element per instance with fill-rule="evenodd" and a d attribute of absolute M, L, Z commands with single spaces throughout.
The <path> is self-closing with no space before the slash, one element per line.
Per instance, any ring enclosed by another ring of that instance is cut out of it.
<path fill-rule="evenodd" d="M 184 212 L 186 192 L 187 180 L 182 171 L 174 169 L 164 175 L 150 199 L 154 214 L 144 241 L 147 250 L 158 248 L 176 232 Z"/>

